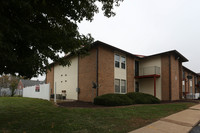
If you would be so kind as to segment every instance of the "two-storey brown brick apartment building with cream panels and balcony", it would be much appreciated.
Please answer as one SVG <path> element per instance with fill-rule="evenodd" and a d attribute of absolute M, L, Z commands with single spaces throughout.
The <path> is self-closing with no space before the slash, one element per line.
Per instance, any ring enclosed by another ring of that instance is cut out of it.
<path fill-rule="evenodd" d="M 52 93 L 56 86 L 57 94 L 65 93 L 68 99 L 81 101 L 93 101 L 96 96 L 107 93 L 128 92 L 148 93 L 161 100 L 179 100 L 192 90 L 183 86 L 184 81 L 187 84 L 182 78 L 183 70 L 196 73 L 182 66 L 188 60 L 176 50 L 140 56 L 96 41 L 89 53 L 85 57 L 68 57 L 70 67 L 52 64 L 46 74 Z M 199 81 L 199 75 L 195 76 Z"/>

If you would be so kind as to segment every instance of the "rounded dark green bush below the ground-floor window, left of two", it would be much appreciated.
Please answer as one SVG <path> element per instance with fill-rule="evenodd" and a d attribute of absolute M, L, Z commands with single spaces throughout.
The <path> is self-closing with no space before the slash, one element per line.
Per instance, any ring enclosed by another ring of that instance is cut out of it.
<path fill-rule="evenodd" d="M 94 98 L 94 104 L 104 106 L 131 105 L 132 100 L 125 94 L 105 94 Z"/>

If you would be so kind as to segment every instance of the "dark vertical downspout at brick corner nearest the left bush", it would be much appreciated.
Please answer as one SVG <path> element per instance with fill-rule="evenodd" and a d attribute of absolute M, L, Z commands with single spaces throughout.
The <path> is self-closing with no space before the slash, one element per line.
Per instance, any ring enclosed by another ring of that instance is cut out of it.
<path fill-rule="evenodd" d="M 98 92 L 99 92 L 99 47 L 97 45 L 97 52 L 96 52 L 96 96 L 98 96 Z"/>

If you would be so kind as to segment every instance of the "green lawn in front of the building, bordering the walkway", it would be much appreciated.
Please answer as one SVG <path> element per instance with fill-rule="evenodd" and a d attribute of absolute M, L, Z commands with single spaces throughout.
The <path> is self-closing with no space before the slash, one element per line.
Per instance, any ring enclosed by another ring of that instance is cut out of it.
<path fill-rule="evenodd" d="M 0 97 L 0 132 L 124 133 L 192 105 L 195 104 L 81 109 L 56 107 L 39 99 Z"/>

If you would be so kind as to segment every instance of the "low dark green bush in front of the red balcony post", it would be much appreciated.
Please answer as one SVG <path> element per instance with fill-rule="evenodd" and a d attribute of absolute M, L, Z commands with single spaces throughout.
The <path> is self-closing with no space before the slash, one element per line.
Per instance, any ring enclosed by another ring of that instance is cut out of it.
<path fill-rule="evenodd" d="M 160 103 L 160 100 L 150 94 L 131 92 L 126 94 L 133 104 L 154 104 Z"/>

